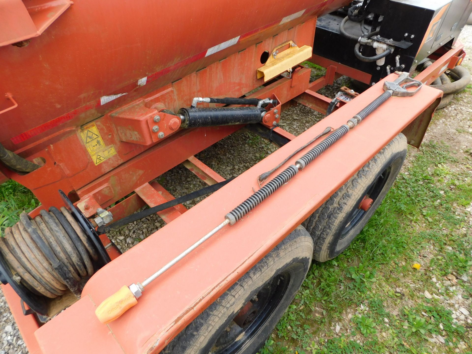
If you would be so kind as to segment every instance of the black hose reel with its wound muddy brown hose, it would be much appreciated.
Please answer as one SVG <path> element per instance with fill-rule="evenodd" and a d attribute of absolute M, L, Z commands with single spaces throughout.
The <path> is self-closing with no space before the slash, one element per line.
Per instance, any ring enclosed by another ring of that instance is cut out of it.
<path fill-rule="evenodd" d="M 42 321 L 48 303 L 60 296 L 80 297 L 85 282 L 110 257 L 98 234 L 66 194 L 66 207 L 41 210 L 34 219 L 22 213 L 0 238 L 0 280 L 17 292 Z"/>

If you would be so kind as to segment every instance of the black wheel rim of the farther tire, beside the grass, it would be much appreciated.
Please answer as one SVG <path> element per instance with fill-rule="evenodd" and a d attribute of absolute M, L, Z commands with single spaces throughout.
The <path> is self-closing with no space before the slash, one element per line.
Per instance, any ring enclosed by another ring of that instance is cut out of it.
<path fill-rule="evenodd" d="M 379 197 L 380 193 L 382 192 L 383 188 L 385 187 L 388 177 L 390 176 L 390 173 L 392 171 L 392 165 L 389 165 L 385 170 L 383 170 L 382 173 L 379 174 L 379 176 L 376 178 L 376 180 L 370 185 L 370 187 L 362 194 L 361 198 L 357 201 L 356 206 L 353 208 L 353 210 L 349 213 L 349 215 L 346 218 L 346 225 L 342 229 L 341 232 L 341 237 L 339 240 L 344 239 L 347 237 L 350 232 L 360 223 L 362 220 L 366 217 L 370 217 L 368 215 L 368 211 L 364 211 L 359 208 L 359 204 L 364 198 L 364 196 L 367 196 L 373 200 L 372 205 L 375 204 L 375 201 Z"/>

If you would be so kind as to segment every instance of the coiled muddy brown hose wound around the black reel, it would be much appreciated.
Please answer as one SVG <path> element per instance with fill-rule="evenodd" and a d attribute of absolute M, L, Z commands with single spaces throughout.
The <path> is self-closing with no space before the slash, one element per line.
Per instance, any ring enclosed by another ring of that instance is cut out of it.
<path fill-rule="evenodd" d="M 79 296 L 81 280 L 93 275 L 98 259 L 93 243 L 66 208 L 40 214 L 31 219 L 22 213 L 6 228 L 0 252 L 15 280 L 34 294 L 55 298 L 69 288 Z"/>

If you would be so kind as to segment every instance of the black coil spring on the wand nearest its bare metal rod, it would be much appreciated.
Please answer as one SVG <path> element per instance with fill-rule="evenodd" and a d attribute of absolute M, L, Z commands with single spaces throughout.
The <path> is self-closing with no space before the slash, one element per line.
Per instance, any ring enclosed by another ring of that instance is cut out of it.
<path fill-rule="evenodd" d="M 276 177 L 270 180 L 270 182 L 226 214 L 225 218 L 229 220 L 229 224 L 233 225 L 236 221 L 244 217 L 244 215 L 253 210 L 270 194 L 274 193 L 278 188 L 292 179 L 297 172 L 298 168 L 295 165 L 288 166 L 287 169 L 280 172 Z"/>

